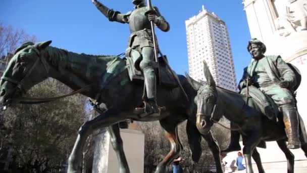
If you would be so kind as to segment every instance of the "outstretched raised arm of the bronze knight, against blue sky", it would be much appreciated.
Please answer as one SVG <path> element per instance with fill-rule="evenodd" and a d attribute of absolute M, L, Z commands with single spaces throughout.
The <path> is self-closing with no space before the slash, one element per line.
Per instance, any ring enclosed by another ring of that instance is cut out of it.
<path fill-rule="evenodd" d="M 96 8 L 104 15 L 106 16 L 109 21 L 116 21 L 120 23 L 127 23 L 127 15 L 121 14 L 118 11 L 114 11 L 113 9 L 109 9 L 105 5 L 101 4 L 97 0 L 92 0 L 93 4 L 96 6 Z"/>

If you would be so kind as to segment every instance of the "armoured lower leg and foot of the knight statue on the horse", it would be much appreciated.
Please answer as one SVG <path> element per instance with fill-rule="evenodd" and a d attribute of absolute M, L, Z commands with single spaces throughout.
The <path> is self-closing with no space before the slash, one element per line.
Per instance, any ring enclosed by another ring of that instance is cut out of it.
<path fill-rule="evenodd" d="M 146 67 L 143 69 L 144 74 L 144 82 L 145 82 L 145 89 L 147 100 L 144 101 L 144 108 L 136 108 L 136 114 L 142 114 L 141 116 L 150 115 L 152 117 L 160 116 L 161 109 L 157 104 L 156 100 L 156 85 L 157 79 L 155 70 L 152 67 Z"/>

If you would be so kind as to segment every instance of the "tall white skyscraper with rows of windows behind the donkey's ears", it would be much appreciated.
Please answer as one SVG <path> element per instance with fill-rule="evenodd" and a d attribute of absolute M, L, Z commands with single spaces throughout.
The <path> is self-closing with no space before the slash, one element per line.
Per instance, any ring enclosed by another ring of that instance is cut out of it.
<path fill-rule="evenodd" d="M 236 75 L 225 22 L 202 6 L 198 15 L 185 21 L 185 26 L 190 76 L 205 81 L 202 61 L 206 60 L 216 84 L 236 91 Z"/>

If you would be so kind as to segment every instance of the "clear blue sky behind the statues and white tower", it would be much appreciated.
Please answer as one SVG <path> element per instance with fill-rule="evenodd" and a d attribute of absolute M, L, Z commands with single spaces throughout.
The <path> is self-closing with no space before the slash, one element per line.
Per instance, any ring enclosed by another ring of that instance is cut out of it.
<path fill-rule="evenodd" d="M 126 13 L 131 0 L 100 0 L 107 7 Z M 185 20 L 198 14 L 201 6 L 226 22 L 237 80 L 250 62 L 246 45 L 250 39 L 242 0 L 152 0 L 171 25 L 169 32 L 157 30 L 161 51 L 178 73 L 188 72 Z M 86 54 L 118 55 L 126 49 L 129 26 L 109 22 L 91 0 L 1 0 L 0 23 L 22 28 L 38 41 L 53 40 L 51 46 Z"/>

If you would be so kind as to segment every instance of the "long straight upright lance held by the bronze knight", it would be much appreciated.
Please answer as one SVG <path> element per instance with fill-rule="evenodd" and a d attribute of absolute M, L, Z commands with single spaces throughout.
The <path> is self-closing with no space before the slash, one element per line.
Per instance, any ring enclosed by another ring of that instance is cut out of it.
<path fill-rule="evenodd" d="M 151 0 L 147 0 L 147 14 L 156 14 L 155 10 L 151 6 Z M 160 73 L 160 66 L 159 66 L 159 60 L 158 60 L 158 45 L 156 40 L 156 32 L 155 32 L 155 24 L 154 21 L 150 21 L 151 25 L 151 33 L 152 33 L 152 42 L 154 43 L 154 51 L 155 51 L 155 61 L 158 64 L 158 75 L 159 75 L 159 84 L 161 84 L 161 73 Z"/>

